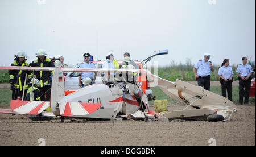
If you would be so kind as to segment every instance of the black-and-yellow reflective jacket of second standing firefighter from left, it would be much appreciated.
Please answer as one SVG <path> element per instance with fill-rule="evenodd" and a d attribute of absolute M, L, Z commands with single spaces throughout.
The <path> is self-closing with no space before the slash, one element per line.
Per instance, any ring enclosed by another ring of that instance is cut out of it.
<path fill-rule="evenodd" d="M 29 65 L 30 67 L 55 67 L 52 60 L 47 59 L 46 57 L 43 60 L 40 60 L 39 57 L 37 60 L 32 61 Z M 52 71 L 53 73 L 53 71 Z M 34 71 L 33 74 L 36 75 L 36 79 L 41 82 L 40 87 L 51 85 L 51 72 L 49 71 Z"/>

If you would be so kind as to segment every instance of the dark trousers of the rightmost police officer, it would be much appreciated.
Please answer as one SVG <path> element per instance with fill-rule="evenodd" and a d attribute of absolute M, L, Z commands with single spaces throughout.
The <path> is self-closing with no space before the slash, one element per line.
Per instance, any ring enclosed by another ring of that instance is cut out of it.
<path fill-rule="evenodd" d="M 245 104 L 248 104 L 250 88 L 251 88 L 251 77 L 248 80 L 242 80 L 239 78 L 239 104 L 243 104 L 243 96 L 245 96 Z"/>

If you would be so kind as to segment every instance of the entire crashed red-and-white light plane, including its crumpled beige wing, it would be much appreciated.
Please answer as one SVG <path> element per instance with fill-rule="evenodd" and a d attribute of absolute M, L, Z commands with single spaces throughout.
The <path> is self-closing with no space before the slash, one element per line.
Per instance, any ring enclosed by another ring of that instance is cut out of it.
<path fill-rule="evenodd" d="M 114 119 L 117 115 L 132 119 L 171 121 L 174 119 L 227 121 L 237 111 L 232 101 L 184 81 L 164 80 L 146 69 L 82 69 L 52 67 L 4 67 L 0 69 L 27 71 L 54 71 L 51 101 L 11 100 L 11 109 L 0 109 L 0 113 L 25 114 L 32 120 L 48 120 L 53 117 Z M 148 98 L 140 82 L 123 79 L 102 81 L 79 89 L 65 96 L 63 72 L 97 73 L 144 73 L 155 86 L 159 86 L 168 97 L 188 106 L 183 110 L 155 113 L 150 110 Z M 51 112 L 45 111 L 51 108 Z"/>

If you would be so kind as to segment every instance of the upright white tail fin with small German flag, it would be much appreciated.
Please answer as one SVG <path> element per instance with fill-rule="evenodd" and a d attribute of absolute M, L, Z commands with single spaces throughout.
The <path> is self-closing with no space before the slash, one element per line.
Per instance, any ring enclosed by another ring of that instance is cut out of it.
<path fill-rule="evenodd" d="M 55 68 L 52 75 L 51 89 L 51 111 L 53 114 L 60 115 L 58 101 L 65 96 L 65 84 L 63 71 L 60 68 Z"/>

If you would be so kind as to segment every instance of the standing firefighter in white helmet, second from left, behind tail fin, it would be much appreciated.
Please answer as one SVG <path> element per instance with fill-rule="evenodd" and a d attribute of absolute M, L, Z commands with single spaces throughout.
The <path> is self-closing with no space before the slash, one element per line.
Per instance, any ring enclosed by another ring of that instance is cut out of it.
<path fill-rule="evenodd" d="M 30 67 L 55 67 L 53 61 L 48 59 L 46 55 L 46 52 L 43 49 L 40 49 L 36 53 L 38 59 L 32 61 Z M 41 101 L 49 101 L 51 97 L 51 73 L 53 73 L 53 71 L 34 71 L 33 73 L 36 75 L 36 79 L 40 81 L 39 90 Z"/>

